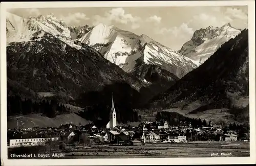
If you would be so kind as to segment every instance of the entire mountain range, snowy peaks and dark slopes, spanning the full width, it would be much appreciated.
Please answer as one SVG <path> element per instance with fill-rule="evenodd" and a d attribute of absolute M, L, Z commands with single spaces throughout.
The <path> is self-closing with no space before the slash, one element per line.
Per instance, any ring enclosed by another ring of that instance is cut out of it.
<path fill-rule="evenodd" d="M 193 112 L 247 97 L 248 31 L 229 23 L 195 31 L 176 52 L 145 34 L 102 23 L 71 27 L 53 14 L 7 13 L 6 21 L 8 96 L 54 97 L 84 108 L 79 116 L 93 121 L 108 117 L 114 93 L 123 122 L 137 119 L 134 108 L 199 103 Z"/>

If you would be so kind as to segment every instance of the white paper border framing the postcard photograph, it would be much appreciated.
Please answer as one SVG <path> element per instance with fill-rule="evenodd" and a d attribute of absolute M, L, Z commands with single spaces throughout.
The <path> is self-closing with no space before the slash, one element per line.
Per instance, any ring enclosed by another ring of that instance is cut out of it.
<path fill-rule="evenodd" d="M 6 9 L 70 7 L 248 6 L 250 157 L 128 158 L 128 159 L 7 159 Z M 3 165 L 149 165 L 149 164 L 246 164 L 255 156 L 255 3 L 254 1 L 143 1 L 143 2 L 16 2 L 1 3 L 1 162 Z"/>

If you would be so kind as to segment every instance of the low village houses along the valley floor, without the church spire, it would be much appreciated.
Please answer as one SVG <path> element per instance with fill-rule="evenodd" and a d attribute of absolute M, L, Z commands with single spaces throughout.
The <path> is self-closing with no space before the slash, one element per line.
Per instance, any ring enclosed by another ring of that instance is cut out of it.
<path fill-rule="evenodd" d="M 197 135 L 202 137 L 195 138 Z M 210 123 L 207 127 L 193 128 L 191 125 L 169 126 L 168 122 L 144 122 L 140 126 L 116 126 L 99 128 L 94 124 L 76 126 L 65 124 L 60 127 L 27 128 L 8 131 L 8 147 L 39 146 L 55 141 L 56 144 L 115 144 L 143 145 L 144 143 L 187 143 L 192 140 L 237 141 L 238 135 L 223 133 Z"/>

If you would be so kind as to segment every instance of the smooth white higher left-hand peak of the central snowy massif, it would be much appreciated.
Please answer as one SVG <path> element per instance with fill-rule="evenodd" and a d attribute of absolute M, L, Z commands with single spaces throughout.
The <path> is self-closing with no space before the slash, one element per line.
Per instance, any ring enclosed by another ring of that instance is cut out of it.
<path fill-rule="evenodd" d="M 132 51 L 138 35 L 120 30 L 115 26 L 106 26 L 100 23 L 90 32 L 81 37 L 79 41 L 92 46 L 104 58 L 116 65 L 122 66 L 126 57 Z"/>

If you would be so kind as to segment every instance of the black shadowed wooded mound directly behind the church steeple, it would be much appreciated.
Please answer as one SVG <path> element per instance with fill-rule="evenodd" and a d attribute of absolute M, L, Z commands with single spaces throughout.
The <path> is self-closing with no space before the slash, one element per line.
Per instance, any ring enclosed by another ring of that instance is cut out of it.
<path fill-rule="evenodd" d="M 87 120 L 94 122 L 101 118 L 104 121 L 109 121 L 112 94 L 117 121 L 122 123 L 138 122 L 138 112 L 133 108 L 137 104 L 140 94 L 127 83 L 106 85 L 101 91 L 83 93 L 80 99 L 71 101 L 70 104 L 84 108 L 84 111 L 79 112 L 78 115 Z"/>

